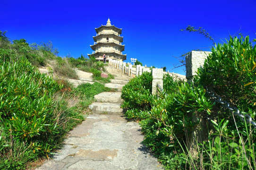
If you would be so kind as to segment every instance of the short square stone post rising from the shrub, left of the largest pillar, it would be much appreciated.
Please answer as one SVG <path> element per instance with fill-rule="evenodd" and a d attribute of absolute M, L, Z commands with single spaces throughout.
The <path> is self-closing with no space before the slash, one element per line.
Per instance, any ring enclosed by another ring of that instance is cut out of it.
<path fill-rule="evenodd" d="M 153 81 L 152 81 L 152 94 L 156 95 L 156 85 L 160 85 L 161 88 L 163 88 L 163 83 L 162 83 L 162 77 L 163 77 L 163 70 L 162 68 L 152 68 L 152 76 L 153 76 Z"/>

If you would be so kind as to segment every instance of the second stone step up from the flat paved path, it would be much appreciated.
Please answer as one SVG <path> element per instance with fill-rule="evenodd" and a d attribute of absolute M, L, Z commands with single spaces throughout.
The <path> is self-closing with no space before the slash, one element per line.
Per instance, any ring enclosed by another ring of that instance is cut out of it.
<path fill-rule="evenodd" d="M 121 92 L 103 92 L 94 96 L 97 102 L 122 103 Z"/>

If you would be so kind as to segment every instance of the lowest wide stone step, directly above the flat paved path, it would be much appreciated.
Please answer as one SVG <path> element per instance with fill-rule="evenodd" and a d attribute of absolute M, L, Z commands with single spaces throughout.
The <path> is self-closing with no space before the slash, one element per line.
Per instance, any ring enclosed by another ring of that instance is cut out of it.
<path fill-rule="evenodd" d="M 125 110 L 120 106 L 120 103 L 94 102 L 89 106 L 89 109 L 91 109 L 94 114 L 122 115 Z"/>

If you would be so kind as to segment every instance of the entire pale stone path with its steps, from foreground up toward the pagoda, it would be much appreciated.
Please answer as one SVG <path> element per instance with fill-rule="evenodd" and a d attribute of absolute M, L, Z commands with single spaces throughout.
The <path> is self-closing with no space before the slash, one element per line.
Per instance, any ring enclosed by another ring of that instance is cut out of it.
<path fill-rule="evenodd" d="M 162 170 L 149 150 L 141 144 L 143 135 L 136 122 L 128 122 L 120 108 L 121 89 L 129 77 L 115 68 L 106 86 L 118 92 L 95 95 L 89 107 L 93 114 L 69 132 L 61 150 L 36 170 Z"/>

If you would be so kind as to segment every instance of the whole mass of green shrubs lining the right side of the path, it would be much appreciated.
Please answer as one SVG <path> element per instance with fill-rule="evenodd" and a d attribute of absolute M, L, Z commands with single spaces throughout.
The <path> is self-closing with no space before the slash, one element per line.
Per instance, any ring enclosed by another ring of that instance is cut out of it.
<path fill-rule="evenodd" d="M 207 87 L 240 113 L 247 112 L 255 118 L 256 47 L 249 37 L 235 37 L 216 45 L 212 52 L 204 68 L 198 69 L 194 83 L 176 82 L 165 76 L 163 87 L 167 95 L 151 96 L 151 86 L 144 86 L 144 80 L 149 79 L 144 76 L 134 78 L 122 90 L 126 115 L 141 120 L 143 143 L 166 169 L 256 169 L 256 130 L 233 117 L 232 111 L 221 104 L 215 104 L 205 90 Z M 146 105 L 143 101 L 150 102 Z M 214 118 L 213 125 L 206 123 L 208 129 L 206 125 L 200 127 L 200 121 L 207 117 Z M 192 156 L 187 143 L 195 129 L 208 136 L 208 141 L 207 137 L 196 141 L 198 155 Z"/>

